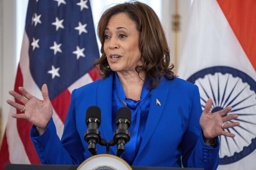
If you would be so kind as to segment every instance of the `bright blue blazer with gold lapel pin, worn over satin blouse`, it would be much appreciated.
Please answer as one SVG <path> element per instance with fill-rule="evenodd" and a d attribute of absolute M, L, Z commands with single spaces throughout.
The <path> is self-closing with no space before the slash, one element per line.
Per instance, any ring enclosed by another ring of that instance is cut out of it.
<path fill-rule="evenodd" d="M 113 76 L 75 89 L 65 121 L 61 141 L 51 119 L 46 131 L 38 136 L 35 127 L 30 135 L 43 164 L 81 164 L 89 158 L 84 140 L 87 130 L 85 113 L 88 107 L 101 109 L 101 138 L 110 141 L 112 130 Z M 161 105 L 156 104 L 156 99 Z M 202 113 L 198 87 L 180 78 L 168 81 L 162 78 L 151 91 L 148 118 L 137 156 L 132 166 L 203 167 L 215 170 L 219 164 L 219 146 L 207 146 L 199 124 Z M 219 144 L 219 141 L 218 141 Z M 116 154 L 116 146 L 110 153 Z M 97 144 L 97 154 L 106 153 L 106 147 Z"/>

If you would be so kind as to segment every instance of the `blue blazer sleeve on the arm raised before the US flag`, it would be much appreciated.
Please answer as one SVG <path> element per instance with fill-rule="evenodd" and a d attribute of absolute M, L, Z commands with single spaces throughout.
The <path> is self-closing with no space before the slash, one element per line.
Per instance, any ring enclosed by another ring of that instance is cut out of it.
<path fill-rule="evenodd" d="M 84 161 L 84 147 L 76 128 L 74 94 L 75 90 L 71 94 L 71 104 L 61 140 L 52 118 L 41 136 L 38 136 L 35 126 L 30 131 L 30 137 L 42 164 L 80 164 Z"/>

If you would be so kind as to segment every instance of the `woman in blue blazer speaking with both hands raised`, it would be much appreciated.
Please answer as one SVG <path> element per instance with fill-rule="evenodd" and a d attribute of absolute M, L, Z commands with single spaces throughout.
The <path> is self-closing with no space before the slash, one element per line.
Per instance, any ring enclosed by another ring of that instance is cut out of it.
<path fill-rule="evenodd" d="M 227 123 L 238 115 L 226 115 L 231 107 L 210 113 L 209 99 L 202 113 L 198 87 L 177 78 L 169 60 L 168 44 L 161 23 L 144 3 L 131 2 L 113 6 L 100 18 L 98 36 L 102 56 L 95 61 L 103 79 L 75 89 L 59 140 L 51 118 L 47 86 L 42 86 L 43 101 L 29 94 L 9 93 L 23 105 L 8 104 L 24 110 L 14 118 L 24 118 L 34 126 L 31 138 L 43 164 L 81 164 L 91 156 L 84 141 L 85 112 L 100 107 L 101 137 L 110 141 L 116 130 L 116 112 L 120 107 L 132 111 L 122 158 L 132 166 L 203 167 L 212 170 L 219 163 L 219 135 L 234 137 L 223 128 L 238 126 Z M 201 114 L 202 113 L 202 114 Z M 115 155 L 116 146 L 110 147 Z M 106 148 L 97 145 L 97 153 Z"/>

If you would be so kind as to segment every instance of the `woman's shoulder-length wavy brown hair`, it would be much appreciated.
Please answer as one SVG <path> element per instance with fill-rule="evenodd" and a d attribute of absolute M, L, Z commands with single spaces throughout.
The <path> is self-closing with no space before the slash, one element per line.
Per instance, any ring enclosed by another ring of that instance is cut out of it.
<path fill-rule="evenodd" d="M 143 63 L 141 66 L 136 66 L 136 72 L 144 71 L 146 81 L 150 82 L 149 89 L 154 89 L 159 85 L 161 77 L 164 76 L 167 80 L 173 80 L 176 75 L 172 71 L 174 65 L 170 63 L 170 51 L 165 37 L 162 25 L 156 13 L 144 3 L 130 1 L 122 3 L 107 9 L 98 23 L 98 37 L 101 43 L 100 59 L 94 61 L 94 67 L 99 67 L 102 78 L 109 77 L 112 70 L 104 52 L 104 30 L 109 19 L 119 13 L 124 13 L 129 16 L 136 24 L 139 32 L 139 47 Z M 144 80 L 145 81 L 145 80 Z"/>

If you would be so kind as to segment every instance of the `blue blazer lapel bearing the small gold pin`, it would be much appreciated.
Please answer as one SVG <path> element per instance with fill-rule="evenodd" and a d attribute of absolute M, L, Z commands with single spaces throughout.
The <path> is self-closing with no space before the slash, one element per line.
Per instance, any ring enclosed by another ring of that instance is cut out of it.
<path fill-rule="evenodd" d="M 151 103 L 148 112 L 147 123 L 136 158 L 139 157 L 141 151 L 144 149 L 147 142 L 149 141 L 157 124 L 159 124 L 159 119 L 162 115 L 163 109 L 165 107 L 165 101 L 168 96 L 168 90 L 168 80 L 162 78 L 160 84 L 151 91 Z M 136 158 L 134 160 L 134 163 L 136 162 Z"/>

